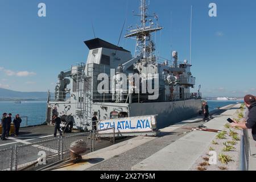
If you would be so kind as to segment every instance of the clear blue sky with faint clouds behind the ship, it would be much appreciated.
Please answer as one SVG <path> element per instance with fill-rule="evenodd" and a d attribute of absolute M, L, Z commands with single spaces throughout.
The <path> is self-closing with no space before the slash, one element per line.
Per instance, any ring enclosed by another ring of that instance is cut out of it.
<path fill-rule="evenodd" d="M 46 3 L 47 16 L 38 16 Z M 209 17 L 209 3 L 217 17 Z M 164 27 L 157 52 L 189 59 L 189 22 L 193 5 L 192 73 L 204 96 L 256 94 L 256 1 L 151 0 L 150 13 Z M 96 36 L 117 44 L 122 24 L 137 24 L 139 0 L 0 0 L 0 87 L 19 91 L 53 90 L 60 71 L 85 62 L 84 40 Z M 123 35 L 125 32 L 123 32 Z M 135 42 L 120 46 L 134 51 Z"/>

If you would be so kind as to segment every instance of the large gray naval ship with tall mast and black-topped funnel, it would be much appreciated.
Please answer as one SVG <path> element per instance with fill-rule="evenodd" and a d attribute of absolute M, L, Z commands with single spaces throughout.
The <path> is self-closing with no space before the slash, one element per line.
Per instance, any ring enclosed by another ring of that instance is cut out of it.
<path fill-rule="evenodd" d="M 190 92 L 192 65 L 179 62 L 176 51 L 171 61 L 155 55 L 153 33 L 162 27 L 157 15 L 148 15 L 146 0 L 140 11 L 141 24 L 125 35 L 136 40 L 134 55 L 99 38 L 85 41 L 86 64 L 61 72 L 54 96 L 48 92 L 47 123 L 58 114 L 68 130 L 89 131 L 93 114 L 98 120 L 155 115 L 155 128 L 162 129 L 199 113 L 201 94 Z"/>

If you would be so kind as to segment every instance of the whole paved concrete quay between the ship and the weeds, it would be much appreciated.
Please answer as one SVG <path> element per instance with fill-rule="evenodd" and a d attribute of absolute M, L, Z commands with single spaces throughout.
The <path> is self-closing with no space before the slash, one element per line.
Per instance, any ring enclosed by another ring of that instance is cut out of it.
<path fill-rule="evenodd" d="M 206 126 L 222 130 L 226 119 L 232 118 L 240 104 L 222 107 L 205 123 L 201 117 L 176 123 L 160 130 L 157 137 L 134 137 L 108 148 L 82 156 L 82 162 L 59 171 L 184 171 L 189 170 L 205 152 L 217 133 L 192 131 L 183 127 Z M 254 144 L 255 145 L 255 144 Z"/>

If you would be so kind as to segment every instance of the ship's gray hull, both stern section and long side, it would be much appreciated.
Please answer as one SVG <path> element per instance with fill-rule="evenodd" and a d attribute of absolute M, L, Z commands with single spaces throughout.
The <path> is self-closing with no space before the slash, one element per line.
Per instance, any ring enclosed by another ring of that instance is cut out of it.
<path fill-rule="evenodd" d="M 66 107 L 70 106 L 69 109 Z M 51 122 L 53 107 L 57 106 L 58 113 L 62 115 L 73 115 L 76 113 L 76 104 L 70 102 L 49 102 L 47 110 L 47 123 Z M 163 129 L 174 123 L 195 117 L 201 110 L 201 100 L 184 100 L 174 102 L 147 102 L 147 103 L 94 103 L 92 111 L 96 113 L 99 120 L 111 118 L 112 111 L 125 112 L 127 117 L 138 117 L 143 115 L 156 115 L 157 129 Z M 73 115 L 74 128 L 81 130 L 91 130 L 92 125 L 81 122 L 78 115 Z"/>

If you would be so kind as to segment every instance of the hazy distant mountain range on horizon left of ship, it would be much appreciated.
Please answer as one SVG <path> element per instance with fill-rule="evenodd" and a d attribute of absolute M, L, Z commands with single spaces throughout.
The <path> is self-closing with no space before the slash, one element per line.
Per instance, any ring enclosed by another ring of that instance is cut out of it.
<path fill-rule="evenodd" d="M 0 88 L 0 100 L 2 101 L 46 101 L 47 92 L 17 92 L 9 89 Z"/>

